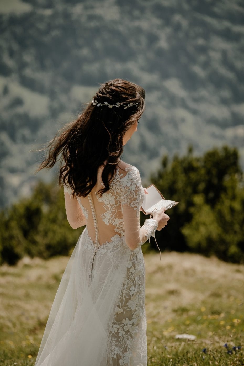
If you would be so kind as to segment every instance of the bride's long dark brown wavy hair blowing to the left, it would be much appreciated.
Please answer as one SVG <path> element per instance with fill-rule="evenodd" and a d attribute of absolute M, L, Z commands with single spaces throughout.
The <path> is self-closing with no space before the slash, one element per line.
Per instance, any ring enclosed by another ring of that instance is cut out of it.
<path fill-rule="evenodd" d="M 48 143 L 46 157 L 37 171 L 52 168 L 60 161 L 59 184 L 68 184 L 73 195 L 86 197 L 103 165 L 104 188 L 99 193 L 108 191 L 123 152 L 123 136 L 142 115 L 144 98 L 144 89 L 129 81 L 115 79 L 102 84 L 94 96 L 98 103 L 136 105 L 124 109 L 90 102 L 77 120 L 64 126 Z"/>

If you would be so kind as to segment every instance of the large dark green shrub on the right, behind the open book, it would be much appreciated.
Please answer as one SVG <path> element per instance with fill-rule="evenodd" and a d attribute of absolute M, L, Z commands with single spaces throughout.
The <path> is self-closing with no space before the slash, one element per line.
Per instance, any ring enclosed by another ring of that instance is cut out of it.
<path fill-rule="evenodd" d="M 224 146 L 195 157 L 189 148 L 171 163 L 164 157 L 151 180 L 166 199 L 179 201 L 157 233 L 161 247 L 244 262 L 244 180 L 237 149 Z"/>

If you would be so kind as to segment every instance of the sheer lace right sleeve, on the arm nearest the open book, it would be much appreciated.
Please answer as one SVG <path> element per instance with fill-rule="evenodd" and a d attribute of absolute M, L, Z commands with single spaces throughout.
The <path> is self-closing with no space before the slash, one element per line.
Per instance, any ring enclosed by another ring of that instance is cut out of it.
<path fill-rule="evenodd" d="M 147 219 L 140 227 L 139 213 L 142 195 L 142 183 L 138 169 L 130 167 L 127 175 L 121 179 L 121 203 L 125 228 L 125 242 L 130 249 L 142 245 L 155 235 L 158 223 L 154 219 Z"/>

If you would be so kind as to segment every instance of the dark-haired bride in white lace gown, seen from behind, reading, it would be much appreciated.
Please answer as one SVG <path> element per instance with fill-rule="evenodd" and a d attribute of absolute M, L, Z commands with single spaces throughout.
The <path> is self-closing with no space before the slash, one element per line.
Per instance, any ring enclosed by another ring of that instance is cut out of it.
<path fill-rule="evenodd" d="M 60 160 L 72 228 L 86 225 L 60 282 L 35 366 L 146 366 L 145 269 L 141 245 L 169 216 L 142 227 L 140 174 L 120 156 L 137 131 L 144 90 L 106 82 L 75 122 L 50 142 L 39 167 Z"/>

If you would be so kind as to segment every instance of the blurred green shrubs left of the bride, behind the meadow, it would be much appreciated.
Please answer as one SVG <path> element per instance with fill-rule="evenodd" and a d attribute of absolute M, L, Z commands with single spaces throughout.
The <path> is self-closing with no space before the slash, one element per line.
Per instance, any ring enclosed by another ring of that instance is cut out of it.
<path fill-rule="evenodd" d="M 1 263 L 15 264 L 23 255 L 68 255 L 81 232 L 67 221 L 63 190 L 56 183 L 39 182 L 30 198 L 1 212 Z"/>

